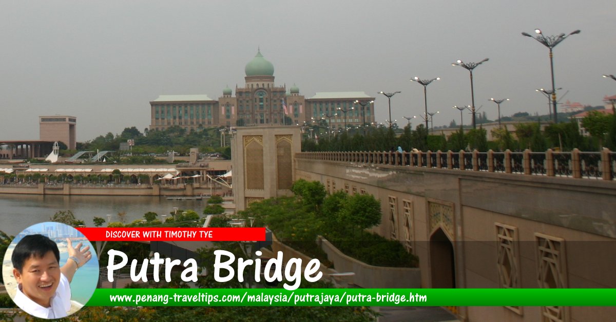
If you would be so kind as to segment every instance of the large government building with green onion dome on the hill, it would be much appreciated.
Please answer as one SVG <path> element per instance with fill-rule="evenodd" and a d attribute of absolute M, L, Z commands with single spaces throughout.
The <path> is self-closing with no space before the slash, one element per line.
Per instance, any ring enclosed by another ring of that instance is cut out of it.
<path fill-rule="evenodd" d="M 365 92 L 317 92 L 310 98 L 293 85 L 274 83 L 274 65 L 258 50 L 246 64 L 246 84 L 235 87 L 235 96 L 229 86 L 217 100 L 206 94 L 160 95 L 150 102 L 150 129 L 163 130 L 171 126 L 185 129 L 200 127 L 237 127 L 275 125 L 304 125 L 324 119 L 332 129 L 360 126 L 375 121 L 374 103 L 363 111 L 362 105 L 375 100 Z M 364 121 L 365 120 L 365 121 Z"/>

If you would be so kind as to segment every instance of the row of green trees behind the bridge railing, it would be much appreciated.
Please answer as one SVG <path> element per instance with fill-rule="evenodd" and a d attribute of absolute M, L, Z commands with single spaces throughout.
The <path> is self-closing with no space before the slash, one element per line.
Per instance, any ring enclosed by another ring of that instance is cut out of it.
<path fill-rule="evenodd" d="M 545 151 L 559 148 L 570 151 L 578 148 L 582 151 L 598 151 L 602 147 L 616 150 L 616 116 L 590 111 L 582 120 L 582 125 L 591 135 L 585 137 L 575 121 L 550 124 L 543 131 L 539 123 L 516 124 L 514 131 L 500 127 L 492 131 L 492 141 L 487 140 L 487 131 L 479 126 L 477 129 L 458 129 L 449 137 L 429 135 L 423 124 L 411 130 L 405 126 L 401 133 L 388 127 L 361 131 L 342 132 L 338 135 L 321 135 L 318 140 L 306 137 L 302 143 L 303 151 L 390 151 L 397 147 L 404 151 L 414 148 L 420 151 L 459 151 L 459 150 L 495 150 L 495 151 Z"/>

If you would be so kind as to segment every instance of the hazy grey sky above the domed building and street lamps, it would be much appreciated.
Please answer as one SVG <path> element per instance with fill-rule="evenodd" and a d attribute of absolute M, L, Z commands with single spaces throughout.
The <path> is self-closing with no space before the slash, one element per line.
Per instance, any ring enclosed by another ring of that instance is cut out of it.
<path fill-rule="evenodd" d="M 77 140 L 143 131 L 158 95 L 208 94 L 243 86 L 261 47 L 275 83 L 301 94 L 365 91 L 378 121 L 423 113 L 428 86 L 434 125 L 459 123 L 470 105 L 469 73 L 451 63 L 490 61 L 474 70 L 475 105 L 496 118 L 490 97 L 509 98 L 503 116 L 548 113 L 534 91 L 551 88 L 548 49 L 521 35 L 582 33 L 554 49 L 562 102 L 602 105 L 616 94 L 616 1 L 2 1 L 0 139 L 38 139 L 39 115 L 77 117 Z M 235 95 L 235 91 L 233 91 Z M 464 123 L 470 116 L 464 115 Z M 419 121 L 413 122 L 413 127 Z"/>

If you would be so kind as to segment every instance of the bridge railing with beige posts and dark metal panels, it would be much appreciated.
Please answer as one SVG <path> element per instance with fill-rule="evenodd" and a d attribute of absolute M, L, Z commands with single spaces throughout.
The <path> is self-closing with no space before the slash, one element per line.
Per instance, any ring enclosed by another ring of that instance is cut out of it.
<path fill-rule="evenodd" d="M 616 179 L 616 152 L 479 152 L 474 151 L 354 151 L 301 152 L 299 159 L 340 161 L 345 163 L 387 164 L 390 166 L 432 167 L 464 171 L 503 172 L 578 179 Z"/>

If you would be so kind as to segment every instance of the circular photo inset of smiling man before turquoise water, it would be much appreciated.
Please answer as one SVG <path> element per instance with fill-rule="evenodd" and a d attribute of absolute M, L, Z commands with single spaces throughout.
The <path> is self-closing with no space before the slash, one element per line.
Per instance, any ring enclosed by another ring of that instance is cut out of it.
<path fill-rule="evenodd" d="M 99 283 L 99 260 L 75 228 L 43 222 L 18 233 L 2 261 L 10 298 L 38 318 L 63 318 L 81 309 Z"/>

